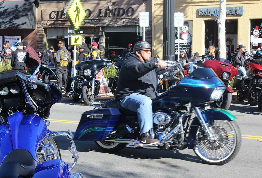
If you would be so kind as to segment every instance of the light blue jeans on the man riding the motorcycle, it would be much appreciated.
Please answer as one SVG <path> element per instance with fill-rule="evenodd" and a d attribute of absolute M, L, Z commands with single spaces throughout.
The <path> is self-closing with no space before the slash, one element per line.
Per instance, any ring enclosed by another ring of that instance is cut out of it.
<path fill-rule="evenodd" d="M 121 100 L 120 105 L 133 112 L 137 112 L 141 134 L 153 128 L 152 100 L 138 93 L 132 93 Z"/>

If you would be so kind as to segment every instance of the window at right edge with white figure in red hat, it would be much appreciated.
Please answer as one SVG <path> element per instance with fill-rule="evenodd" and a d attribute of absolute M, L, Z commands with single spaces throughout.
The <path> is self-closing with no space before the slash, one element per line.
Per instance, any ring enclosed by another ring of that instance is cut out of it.
<path fill-rule="evenodd" d="M 262 19 L 250 20 L 250 54 L 256 54 L 262 44 Z"/>

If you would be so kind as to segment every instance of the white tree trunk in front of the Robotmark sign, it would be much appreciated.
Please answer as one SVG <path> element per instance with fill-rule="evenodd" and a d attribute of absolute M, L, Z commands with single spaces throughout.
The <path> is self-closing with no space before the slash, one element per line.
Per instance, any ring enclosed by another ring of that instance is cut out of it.
<path fill-rule="evenodd" d="M 218 49 L 219 57 L 226 59 L 226 0 L 220 0 L 218 25 Z"/>

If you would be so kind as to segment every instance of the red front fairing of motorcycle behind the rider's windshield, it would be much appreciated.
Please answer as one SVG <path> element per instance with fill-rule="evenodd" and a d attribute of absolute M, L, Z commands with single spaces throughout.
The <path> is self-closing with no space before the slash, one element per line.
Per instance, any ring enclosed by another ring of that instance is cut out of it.
<path fill-rule="evenodd" d="M 212 68 L 220 78 L 223 72 L 230 73 L 229 80 L 232 80 L 232 78 L 238 74 L 238 70 L 236 69 L 236 67 L 223 61 L 208 60 L 204 62 L 204 66 Z"/>

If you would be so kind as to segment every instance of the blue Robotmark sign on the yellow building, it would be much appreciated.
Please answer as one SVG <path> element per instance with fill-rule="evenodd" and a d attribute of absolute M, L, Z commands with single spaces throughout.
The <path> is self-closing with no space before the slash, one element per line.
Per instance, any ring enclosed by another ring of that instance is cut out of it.
<path fill-rule="evenodd" d="M 198 8 L 199 17 L 215 16 L 219 7 Z M 227 7 L 227 16 L 243 15 L 243 7 Z"/>

